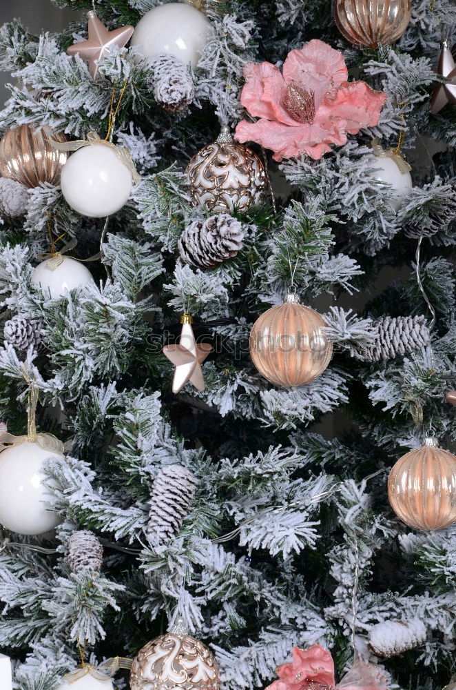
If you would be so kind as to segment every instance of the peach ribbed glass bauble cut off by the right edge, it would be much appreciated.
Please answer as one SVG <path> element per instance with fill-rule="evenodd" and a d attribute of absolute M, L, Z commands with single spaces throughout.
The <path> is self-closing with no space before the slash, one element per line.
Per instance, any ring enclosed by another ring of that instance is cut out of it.
<path fill-rule="evenodd" d="M 396 515 L 415 529 L 448 527 L 456 520 L 456 455 L 426 436 L 421 448 L 397 460 L 388 498 Z"/>

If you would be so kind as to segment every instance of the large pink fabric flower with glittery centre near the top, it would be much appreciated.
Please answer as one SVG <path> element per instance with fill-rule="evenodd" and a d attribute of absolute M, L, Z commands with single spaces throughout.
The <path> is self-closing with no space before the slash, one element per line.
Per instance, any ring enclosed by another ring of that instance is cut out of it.
<path fill-rule="evenodd" d="M 242 120 L 236 139 L 270 148 L 276 161 L 321 158 L 329 144 L 345 144 L 347 133 L 378 124 L 387 98 L 348 76 L 342 53 L 318 39 L 291 50 L 282 72 L 270 62 L 249 63 L 240 102 L 260 119 Z"/>

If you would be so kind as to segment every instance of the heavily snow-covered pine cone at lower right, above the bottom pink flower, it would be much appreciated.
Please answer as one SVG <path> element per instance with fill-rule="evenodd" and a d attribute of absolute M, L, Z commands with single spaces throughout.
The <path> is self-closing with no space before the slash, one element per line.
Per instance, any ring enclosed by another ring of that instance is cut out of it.
<path fill-rule="evenodd" d="M 369 649 L 384 658 L 402 654 L 426 640 L 426 626 L 419 620 L 385 620 L 369 631 Z"/>

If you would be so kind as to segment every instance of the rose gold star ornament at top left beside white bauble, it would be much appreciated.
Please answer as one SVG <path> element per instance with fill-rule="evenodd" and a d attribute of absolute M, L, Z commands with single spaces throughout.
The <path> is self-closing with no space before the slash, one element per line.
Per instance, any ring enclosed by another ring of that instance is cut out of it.
<path fill-rule="evenodd" d="M 87 41 L 74 43 L 68 46 L 68 55 L 79 55 L 83 60 L 89 61 L 89 72 L 93 79 L 96 79 L 99 66 L 96 61 L 103 60 L 110 54 L 112 46 L 123 48 L 127 45 L 134 32 L 133 26 L 121 26 L 114 31 L 108 31 L 102 21 L 96 16 L 94 10 L 87 12 L 87 30 L 89 38 Z"/>

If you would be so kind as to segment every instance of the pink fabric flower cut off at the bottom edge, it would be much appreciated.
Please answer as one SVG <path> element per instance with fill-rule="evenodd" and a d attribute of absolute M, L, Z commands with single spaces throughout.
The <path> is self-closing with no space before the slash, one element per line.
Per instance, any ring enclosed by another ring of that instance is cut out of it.
<path fill-rule="evenodd" d="M 292 655 L 291 664 L 277 667 L 279 680 L 266 690 L 388 690 L 380 671 L 360 659 L 336 685 L 333 658 L 320 644 L 309 649 L 293 647 Z"/>

